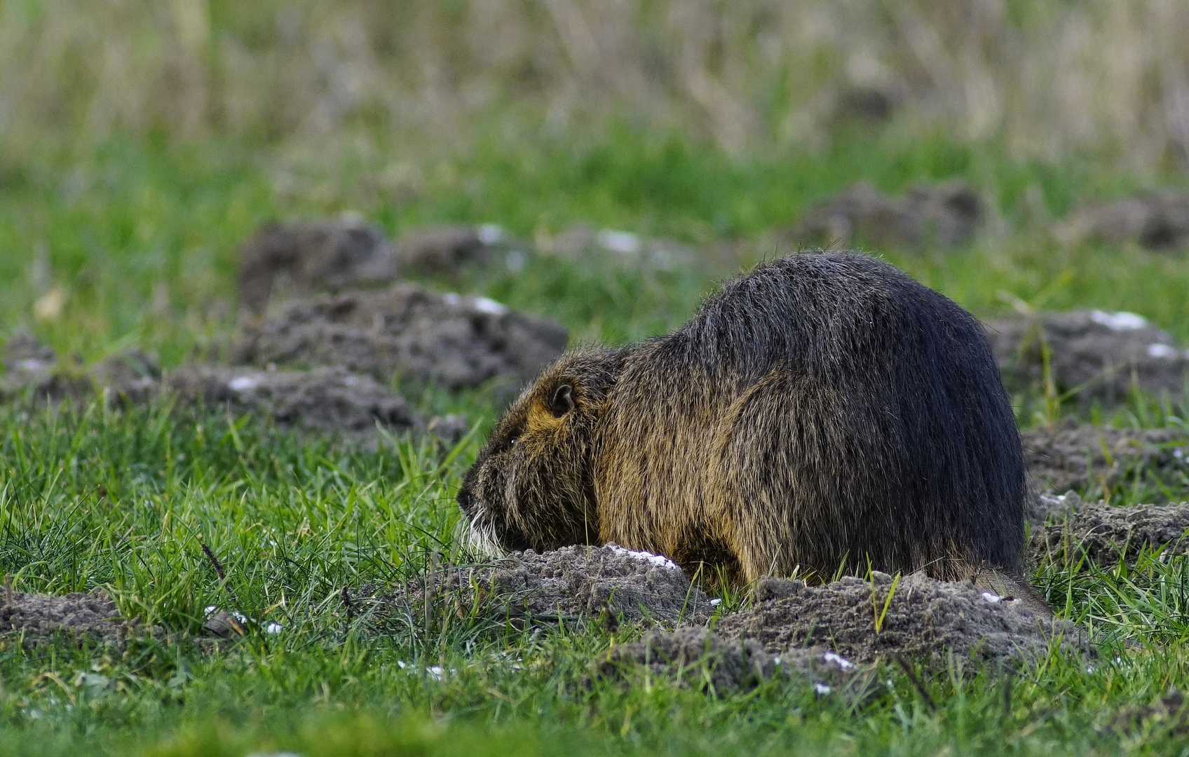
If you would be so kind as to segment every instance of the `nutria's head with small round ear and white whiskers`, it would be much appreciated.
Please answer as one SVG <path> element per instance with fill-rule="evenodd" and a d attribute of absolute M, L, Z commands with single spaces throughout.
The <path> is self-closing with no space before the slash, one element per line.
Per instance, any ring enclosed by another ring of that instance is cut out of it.
<path fill-rule="evenodd" d="M 598 540 L 594 436 L 624 354 L 562 355 L 499 419 L 458 493 L 476 547 L 541 551 Z"/>

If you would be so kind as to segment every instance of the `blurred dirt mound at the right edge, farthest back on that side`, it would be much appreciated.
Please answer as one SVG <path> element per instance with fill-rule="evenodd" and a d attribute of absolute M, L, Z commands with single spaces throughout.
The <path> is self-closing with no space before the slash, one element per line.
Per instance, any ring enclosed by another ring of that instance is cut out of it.
<path fill-rule="evenodd" d="M 1055 231 L 1065 244 L 1138 242 L 1150 250 L 1189 248 L 1189 194 L 1149 193 L 1074 213 Z"/>

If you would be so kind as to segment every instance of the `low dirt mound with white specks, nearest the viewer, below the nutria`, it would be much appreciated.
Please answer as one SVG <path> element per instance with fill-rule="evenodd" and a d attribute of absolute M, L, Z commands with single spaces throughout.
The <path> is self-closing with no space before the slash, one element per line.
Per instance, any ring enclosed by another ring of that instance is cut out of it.
<path fill-rule="evenodd" d="M 605 680 L 624 680 L 646 668 L 653 675 L 675 675 L 718 694 L 751 689 L 775 675 L 804 679 L 820 694 L 862 688 L 870 677 L 866 665 L 822 646 L 769 655 L 754 639 L 726 642 L 699 626 L 649 631 L 637 642 L 612 646 L 591 668 L 593 677 Z"/>

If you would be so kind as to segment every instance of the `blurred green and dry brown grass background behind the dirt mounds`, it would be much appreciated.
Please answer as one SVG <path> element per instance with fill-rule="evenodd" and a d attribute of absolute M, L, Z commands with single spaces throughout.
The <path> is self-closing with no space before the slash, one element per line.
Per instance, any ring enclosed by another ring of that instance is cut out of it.
<path fill-rule="evenodd" d="M 1039 296 L 1185 339 L 1179 258 L 1048 233 L 1185 184 L 1184 29 L 1178 0 L 0 0 L 0 323 L 172 364 L 226 332 L 235 248 L 273 217 L 710 245 L 858 179 L 957 176 L 992 201 L 976 244 L 880 252 L 980 315 Z M 779 252 L 630 291 L 561 263 L 471 286 L 618 341 Z"/>

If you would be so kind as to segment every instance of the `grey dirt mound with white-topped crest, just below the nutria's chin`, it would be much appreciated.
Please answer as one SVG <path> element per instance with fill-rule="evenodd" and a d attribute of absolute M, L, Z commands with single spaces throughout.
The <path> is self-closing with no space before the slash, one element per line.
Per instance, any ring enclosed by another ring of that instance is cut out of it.
<path fill-rule="evenodd" d="M 616 547 L 512 553 L 490 564 L 446 567 L 400 587 L 383 614 L 507 617 L 527 623 L 592 619 L 673 626 L 705 623 L 713 606 L 673 562 Z"/>

